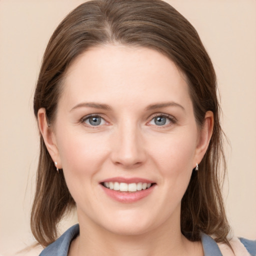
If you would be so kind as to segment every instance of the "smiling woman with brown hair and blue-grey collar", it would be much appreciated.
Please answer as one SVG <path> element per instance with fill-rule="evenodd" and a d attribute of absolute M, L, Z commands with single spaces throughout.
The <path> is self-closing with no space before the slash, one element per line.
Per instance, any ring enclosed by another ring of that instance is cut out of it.
<path fill-rule="evenodd" d="M 74 9 L 45 50 L 34 113 L 41 147 L 31 228 L 47 246 L 41 255 L 256 253 L 253 241 L 227 237 L 212 63 L 167 3 Z M 55 241 L 74 206 L 79 226 Z"/>

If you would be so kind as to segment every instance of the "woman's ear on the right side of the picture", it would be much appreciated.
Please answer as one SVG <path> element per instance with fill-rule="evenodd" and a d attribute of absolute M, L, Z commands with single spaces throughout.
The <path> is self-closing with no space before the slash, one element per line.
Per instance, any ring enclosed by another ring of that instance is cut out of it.
<path fill-rule="evenodd" d="M 208 148 L 213 130 L 213 121 L 214 118 L 212 111 L 207 111 L 204 116 L 204 123 L 198 133 L 199 135 L 195 151 L 194 166 L 196 163 L 199 164 Z"/>

